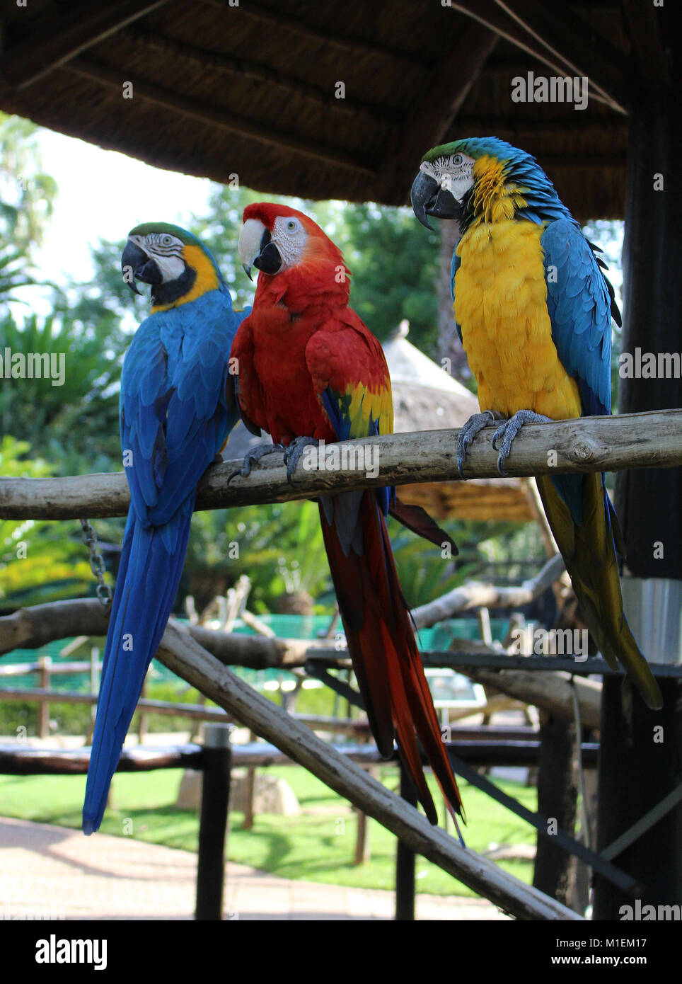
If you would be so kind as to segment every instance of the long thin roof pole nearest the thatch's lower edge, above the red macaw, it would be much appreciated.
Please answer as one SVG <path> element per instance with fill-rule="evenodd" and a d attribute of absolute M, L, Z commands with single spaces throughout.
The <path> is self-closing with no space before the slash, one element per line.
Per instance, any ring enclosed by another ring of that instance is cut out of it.
<path fill-rule="evenodd" d="M 197 120 L 215 127 L 218 130 L 228 130 L 231 133 L 238 133 L 242 137 L 249 137 L 260 141 L 263 144 L 273 145 L 295 154 L 302 154 L 314 160 L 322 160 L 325 164 L 332 164 L 337 167 L 346 167 L 349 170 L 374 177 L 375 172 L 369 162 L 361 159 L 358 154 L 351 154 L 341 148 L 329 147 L 319 144 L 311 139 L 304 139 L 293 134 L 284 133 L 276 130 L 266 123 L 255 123 L 245 116 L 239 116 L 227 109 L 219 106 L 209 106 L 203 101 L 188 98 L 177 92 L 163 89 L 151 83 L 136 79 L 129 74 L 123 75 L 116 69 L 109 68 L 107 65 L 99 65 L 86 58 L 75 58 L 68 65 L 64 66 L 67 72 L 83 76 L 94 82 L 122 92 L 124 79 L 132 83 L 136 98 L 144 99 L 154 105 L 162 106 L 173 113 L 179 113 L 190 119 Z"/>

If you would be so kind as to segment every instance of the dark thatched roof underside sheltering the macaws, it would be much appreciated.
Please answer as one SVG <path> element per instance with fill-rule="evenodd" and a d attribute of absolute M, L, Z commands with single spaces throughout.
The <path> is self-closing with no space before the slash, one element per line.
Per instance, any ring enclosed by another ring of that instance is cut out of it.
<path fill-rule="evenodd" d="M 495 135 L 536 154 L 577 217 L 623 215 L 625 109 L 638 73 L 665 73 L 667 7 L 232 2 L 8 4 L 0 108 L 224 183 L 390 205 L 426 149 Z M 589 77 L 587 108 L 512 101 L 528 72 Z"/>

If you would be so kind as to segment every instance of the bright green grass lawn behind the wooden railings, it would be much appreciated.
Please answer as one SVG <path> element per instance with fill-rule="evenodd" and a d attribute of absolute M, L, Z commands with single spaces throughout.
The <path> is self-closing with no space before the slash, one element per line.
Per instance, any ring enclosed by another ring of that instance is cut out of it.
<path fill-rule="evenodd" d="M 252 865 L 283 878 L 369 889 L 394 888 L 396 838 L 393 834 L 370 821 L 371 860 L 356 866 L 357 817 L 348 801 L 298 766 L 272 768 L 270 772 L 289 782 L 299 799 L 302 814 L 298 817 L 263 814 L 256 816 L 252 830 L 241 830 L 243 814 L 232 813 L 228 837 L 231 861 Z M 173 805 L 181 775 L 180 769 L 116 775 L 112 783 L 112 805 L 104 815 L 100 830 L 196 851 L 197 815 L 189 810 L 178 810 Z M 382 780 L 395 787 L 396 769 L 383 769 Z M 442 816 L 442 797 L 431 776 L 429 783 Z M 496 784 L 528 809 L 537 809 L 535 788 L 504 780 L 496 780 Z M 461 790 L 467 810 L 468 825 L 464 830 L 467 846 L 482 851 L 493 842 L 497 845 L 535 844 L 535 830 L 530 825 L 478 789 L 462 783 Z M 84 792 L 85 776 L 2 775 L 0 814 L 78 829 Z M 500 866 L 526 883 L 532 881 L 533 865 L 529 861 L 501 861 Z M 422 857 L 417 859 L 417 891 L 473 894 Z"/>

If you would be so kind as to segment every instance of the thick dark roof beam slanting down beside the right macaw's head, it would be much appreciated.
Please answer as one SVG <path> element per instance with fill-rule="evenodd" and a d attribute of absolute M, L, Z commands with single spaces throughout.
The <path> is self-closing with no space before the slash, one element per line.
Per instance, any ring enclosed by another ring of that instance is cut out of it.
<path fill-rule="evenodd" d="M 479 24 L 468 24 L 454 50 L 436 65 L 420 104 L 407 119 L 397 154 L 388 149 L 378 179 L 379 188 L 405 189 L 407 195 L 426 151 L 441 143 L 485 61 L 497 35 Z"/>

